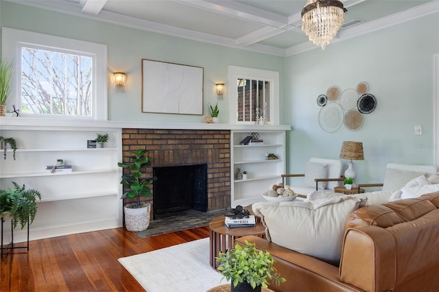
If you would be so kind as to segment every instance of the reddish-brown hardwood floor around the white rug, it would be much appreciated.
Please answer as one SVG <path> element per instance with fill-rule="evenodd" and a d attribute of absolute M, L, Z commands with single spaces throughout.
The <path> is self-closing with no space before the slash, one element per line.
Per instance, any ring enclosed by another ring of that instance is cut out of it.
<path fill-rule="evenodd" d="M 0 291 L 145 291 L 117 261 L 209 237 L 209 226 L 150 238 L 107 229 L 33 240 L 1 260 Z"/>

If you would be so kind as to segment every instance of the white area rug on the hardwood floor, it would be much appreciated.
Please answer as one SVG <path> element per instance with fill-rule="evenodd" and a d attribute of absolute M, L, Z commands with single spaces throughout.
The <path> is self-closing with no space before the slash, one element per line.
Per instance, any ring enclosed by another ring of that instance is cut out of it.
<path fill-rule="evenodd" d="M 205 292 L 227 284 L 209 265 L 209 238 L 119 258 L 119 262 L 147 292 Z"/>

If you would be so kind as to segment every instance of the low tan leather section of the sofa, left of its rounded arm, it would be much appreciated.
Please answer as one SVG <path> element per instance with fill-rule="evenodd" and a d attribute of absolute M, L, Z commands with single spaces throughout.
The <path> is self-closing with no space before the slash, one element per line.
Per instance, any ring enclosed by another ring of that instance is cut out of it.
<path fill-rule="evenodd" d="M 257 236 L 237 238 L 235 243 L 245 245 L 244 240 L 255 243 L 257 249 L 269 251 L 276 261 L 274 267 L 281 277 L 287 280 L 280 286 L 269 285 L 268 287 L 273 291 L 361 291 L 341 282 L 338 267 L 327 262 L 281 247 Z"/>

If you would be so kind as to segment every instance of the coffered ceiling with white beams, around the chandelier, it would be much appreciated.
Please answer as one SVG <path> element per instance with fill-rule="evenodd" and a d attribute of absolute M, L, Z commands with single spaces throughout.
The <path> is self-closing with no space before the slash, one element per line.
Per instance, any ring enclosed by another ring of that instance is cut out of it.
<path fill-rule="evenodd" d="M 3 0 L 278 56 L 320 49 L 302 32 L 306 0 Z M 344 0 L 333 42 L 439 12 L 439 0 Z M 331 44 L 330 44 L 331 45 Z"/>

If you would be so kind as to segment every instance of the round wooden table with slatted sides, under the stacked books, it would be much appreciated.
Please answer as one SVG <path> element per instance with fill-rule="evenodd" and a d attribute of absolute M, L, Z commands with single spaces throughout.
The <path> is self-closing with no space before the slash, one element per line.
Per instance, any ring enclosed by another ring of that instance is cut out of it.
<path fill-rule="evenodd" d="M 259 237 L 265 236 L 265 227 L 262 223 L 257 222 L 254 227 L 237 227 L 227 228 L 224 225 L 224 216 L 213 219 L 209 223 L 210 232 L 210 264 L 213 269 L 217 269 L 219 264 L 216 257 L 219 252 L 225 253 L 228 249 L 235 247 L 235 238 L 254 235 Z"/>

